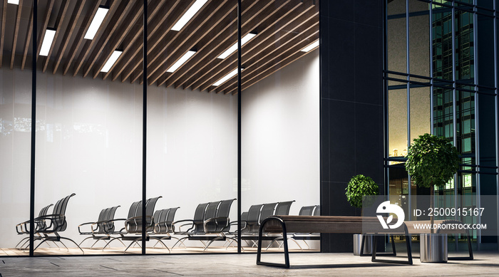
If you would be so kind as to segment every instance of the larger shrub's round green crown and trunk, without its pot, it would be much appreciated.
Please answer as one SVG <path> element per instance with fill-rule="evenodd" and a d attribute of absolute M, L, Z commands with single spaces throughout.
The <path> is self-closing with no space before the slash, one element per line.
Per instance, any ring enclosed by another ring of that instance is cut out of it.
<path fill-rule="evenodd" d="M 413 140 L 407 153 L 406 170 L 418 187 L 430 188 L 433 209 L 435 187 L 446 184 L 459 169 L 459 152 L 446 137 L 424 134 Z M 433 216 L 431 216 L 433 233 Z"/>

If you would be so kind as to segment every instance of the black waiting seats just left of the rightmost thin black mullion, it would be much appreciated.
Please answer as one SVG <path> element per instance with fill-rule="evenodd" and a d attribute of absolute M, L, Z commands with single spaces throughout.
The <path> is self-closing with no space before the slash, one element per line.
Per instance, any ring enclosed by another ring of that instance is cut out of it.
<path fill-rule="evenodd" d="M 186 239 L 201 241 L 205 251 L 214 241 L 226 241 L 226 233 L 230 231 L 230 207 L 235 199 L 222 200 L 218 202 L 203 203 L 197 205 L 194 219 L 185 219 L 173 223 L 174 234 L 183 235 L 175 245 L 183 243 Z M 185 224 L 185 222 L 190 222 Z M 184 223 L 178 225 L 179 223 Z M 179 230 L 176 231 L 178 226 Z M 190 226 L 185 231 L 180 231 L 182 226 Z M 205 244 L 204 241 L 207 241 Z M 175 245 L 173 247 L 175 247 Z"/>

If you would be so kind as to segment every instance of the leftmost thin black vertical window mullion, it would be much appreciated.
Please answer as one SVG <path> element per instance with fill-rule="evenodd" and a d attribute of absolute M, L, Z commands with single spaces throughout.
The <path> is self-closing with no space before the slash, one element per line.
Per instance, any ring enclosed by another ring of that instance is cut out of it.
<path fill-rule="evenodd" d="M 19 7 L 21 9 L 21 7 Z M 36 145 L 36 30 L 38 1 L 33 0 L 33 58 L 31 59 L 31 176 L 29 187 L 29 256 L 34 256 L 35 221 L 35 145 Z"/>

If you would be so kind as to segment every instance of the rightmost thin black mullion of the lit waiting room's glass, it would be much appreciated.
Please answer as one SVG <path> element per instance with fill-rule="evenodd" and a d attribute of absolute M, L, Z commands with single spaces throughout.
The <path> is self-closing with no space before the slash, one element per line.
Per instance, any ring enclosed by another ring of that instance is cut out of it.
<path fill-rule="evenodd" d="M 237 253 L 241 253 L 241 0 L 237 0 Z"/>

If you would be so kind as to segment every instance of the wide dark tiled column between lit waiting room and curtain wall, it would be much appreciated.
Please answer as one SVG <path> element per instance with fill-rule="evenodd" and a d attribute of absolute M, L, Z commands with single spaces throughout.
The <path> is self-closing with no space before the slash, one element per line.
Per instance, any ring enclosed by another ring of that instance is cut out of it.
<path fill-rule="evenodd" d="M 321 214 L 360 216 L 346 201 L 355 174 L 384 185 L 383 0 L 320 1 Z M 384 190 L 381 190 L 384 191 Z M 350 252 L 324 234 L 323 252 Z"/>

